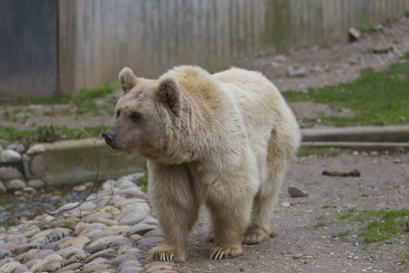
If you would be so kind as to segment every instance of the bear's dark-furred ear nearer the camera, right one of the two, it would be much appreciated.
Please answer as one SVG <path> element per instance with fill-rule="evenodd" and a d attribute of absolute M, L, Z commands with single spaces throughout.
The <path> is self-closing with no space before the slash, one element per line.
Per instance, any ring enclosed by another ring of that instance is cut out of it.
<path fill-rule="evenodd" d="M 180 116 L 180 86 L 175 79 L 167 77 L 161 80 L 156 96 L 176 116 Z"/>

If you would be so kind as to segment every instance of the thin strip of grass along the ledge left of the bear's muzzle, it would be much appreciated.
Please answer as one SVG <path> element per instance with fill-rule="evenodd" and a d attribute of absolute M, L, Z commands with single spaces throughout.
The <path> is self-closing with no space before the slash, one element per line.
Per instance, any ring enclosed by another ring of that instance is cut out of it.
<path fill-rule="evenodd" d="M 31 130 L 20 130 L 11 126 L 0 126 L 0 138 L 8 143 L 32 144 L 35 142 L 55 142 L 64 139 L 79 139 L 100 136 L 108 126 L 85 127 L 40 126 Z"/>

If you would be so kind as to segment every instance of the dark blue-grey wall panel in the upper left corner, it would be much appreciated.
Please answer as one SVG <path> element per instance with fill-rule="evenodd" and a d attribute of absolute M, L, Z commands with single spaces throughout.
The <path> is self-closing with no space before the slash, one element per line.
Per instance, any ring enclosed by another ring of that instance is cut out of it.
<path fill-rule="evenodd" d="M 57 92 L 55 0 L 0 1 L 0 99 Z"/>

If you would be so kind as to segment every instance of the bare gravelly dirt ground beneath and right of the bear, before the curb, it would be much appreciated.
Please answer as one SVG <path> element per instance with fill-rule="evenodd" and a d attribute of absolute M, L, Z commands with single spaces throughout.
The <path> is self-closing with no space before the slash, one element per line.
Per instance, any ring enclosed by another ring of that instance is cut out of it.
<path fill-rule="evenodd" d="M 179 272 L 409 272 L 409 232 L 383 243 L 364 244 L 359 224 L 340 219 L 348 211 L 409 207 L 409 155 L 337 155 L 297 158 L 290 167 L 271 223 L 276 236 L 244 246 L 239 258 L 209 260 L 206 213 L 190 235 Z M 361 177 L 325 177 L 323 170 L 358 169 Z M 294 185 L 308 197 L 290 197 Z M 367 223 L 364 223 L 366 225 Z M 361 223 L 363 225 L 363 223 Z M 337 235 L 348 232 L 348 236 Z M 356 244 L 358 242 L 358 244 Z M 147 258 L 149 261 L 150 258 Z"/>

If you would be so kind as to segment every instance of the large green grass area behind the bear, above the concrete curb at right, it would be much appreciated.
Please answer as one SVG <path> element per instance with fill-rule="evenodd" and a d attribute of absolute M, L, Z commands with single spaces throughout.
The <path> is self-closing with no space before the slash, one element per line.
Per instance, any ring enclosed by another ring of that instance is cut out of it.
<path fill-rule="evenodd" d="M 365 68 L 351 83 L 309 88 L 308 92 L 286 91 L 287 101 L 313 101 L 350 108 L 354 116 L 320 117 L 333 126 L 383 126 L 409 121 L 409 62 L 394 64 L 384 71 Z"/>

